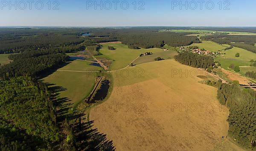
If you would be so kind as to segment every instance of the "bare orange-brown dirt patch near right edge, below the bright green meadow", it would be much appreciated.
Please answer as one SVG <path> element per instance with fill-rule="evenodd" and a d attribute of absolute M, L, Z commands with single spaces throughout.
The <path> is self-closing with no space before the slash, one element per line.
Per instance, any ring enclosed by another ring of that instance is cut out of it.
<path fill-rule="evenodd" d="M 241 85 L 250 85 L 251 81 L 249 79 L 247 79 L 246 77 L 241 76 L 240 74 L 225 70 L 225 69 L 221 69 L 221 71 L 226 74 L 227 78 L 234 81 L 234 80 L 238 80 L 239 84 Z"/>

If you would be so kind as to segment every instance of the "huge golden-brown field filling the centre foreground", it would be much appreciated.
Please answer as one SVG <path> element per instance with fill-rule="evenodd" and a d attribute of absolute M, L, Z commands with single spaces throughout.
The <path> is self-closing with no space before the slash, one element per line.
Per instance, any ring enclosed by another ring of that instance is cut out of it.
<path fill-rule="evenodd" d="M 180 69 L 188 74 L 173 74 Z M 112 94 L 91 109 L 90 120 L 117 151 L 220 148 L 229 111 L 218 103 L 217 89 L 197 76 L 207 73 L 175 60 L 113 73 Z"/>

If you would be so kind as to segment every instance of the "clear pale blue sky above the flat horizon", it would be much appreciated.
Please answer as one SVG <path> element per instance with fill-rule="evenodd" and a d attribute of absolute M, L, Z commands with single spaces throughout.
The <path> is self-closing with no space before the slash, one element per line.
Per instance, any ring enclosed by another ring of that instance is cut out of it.
<path fill-rule="evenodd" d="M 256 26 L 256 0 L 1 0 L 0 26 Z"/>

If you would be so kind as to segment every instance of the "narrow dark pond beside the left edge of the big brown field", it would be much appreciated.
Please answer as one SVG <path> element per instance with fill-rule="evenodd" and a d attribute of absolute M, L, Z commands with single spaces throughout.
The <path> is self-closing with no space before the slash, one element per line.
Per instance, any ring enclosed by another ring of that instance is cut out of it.
<path fill-rule="evenodd" d="M 109 80 L 102 81 L 102 84 L 100 86 L 100 89 L 96 92 L 95 96 L 91 100 L 92 102 L 104 100 L 108 95 L 108 89 L 110 87 Z"/>

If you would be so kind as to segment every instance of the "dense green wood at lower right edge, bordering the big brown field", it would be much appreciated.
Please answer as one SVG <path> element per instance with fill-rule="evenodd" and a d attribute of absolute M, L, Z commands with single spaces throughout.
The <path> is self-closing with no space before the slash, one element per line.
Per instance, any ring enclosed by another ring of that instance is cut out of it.
<path fill-rule="evenodd" d="M 256 145 L 256 92 L 237 84 L 223 83 L 218 88 L 218 100 L 227 105 L 230 115 L 229 135 L 239 144 L 255 149 Z"/>

